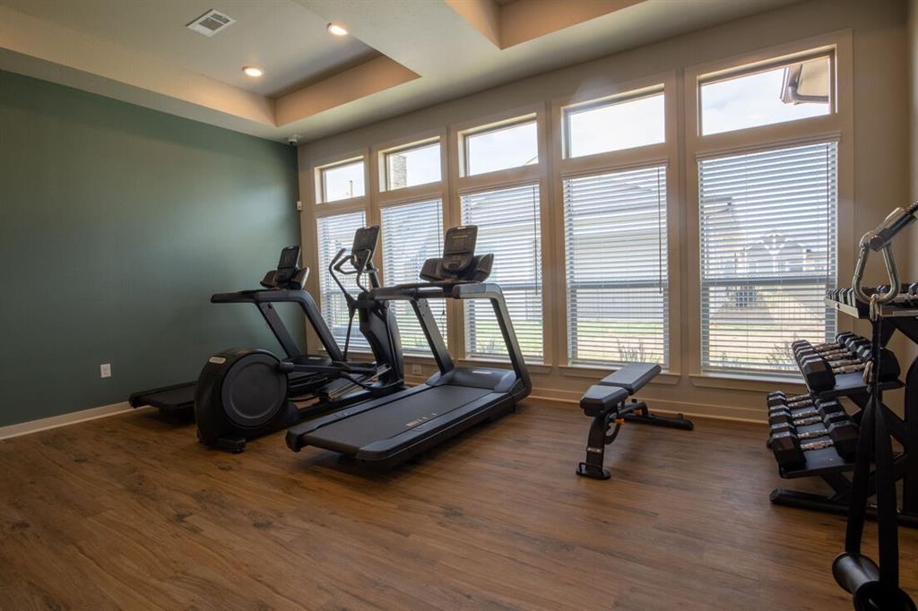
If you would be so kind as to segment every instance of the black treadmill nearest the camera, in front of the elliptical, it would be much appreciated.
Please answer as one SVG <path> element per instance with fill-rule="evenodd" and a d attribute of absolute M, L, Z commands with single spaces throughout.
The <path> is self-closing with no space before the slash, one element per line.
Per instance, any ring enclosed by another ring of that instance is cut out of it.
<path fill-rule="evenodd" d="M 451 228 L 443 240 L 442 258 L 424 262 L 420 278 L 428 282 L 374 288 L 361 295 L 375 301 L 408 301 L 440 371 L 418 386 L 289 428 L 286 443 L 291 450 L 313 446 L 351 456 L 365 466 L 387 469 L 479 422 L 515 410 L 530 394 L 532 381 L 504 295 L 498 284 L 485 282 L 494 256 L 476 256 L 476 238 L 474 225 Z M 511 369 L 457 366 L 446 350 L 428 299 L 489 301 Z"/>

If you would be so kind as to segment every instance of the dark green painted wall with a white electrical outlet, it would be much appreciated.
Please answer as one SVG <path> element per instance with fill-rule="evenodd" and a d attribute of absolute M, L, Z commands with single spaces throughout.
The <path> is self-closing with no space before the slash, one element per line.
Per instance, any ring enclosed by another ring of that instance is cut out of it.
<path fill-rule="evenodd" d="M 0 426 L 278 351 L 254 306 L 209 298 L 299 242 L 297 198 L 289 146 L 0 71 Z"/>

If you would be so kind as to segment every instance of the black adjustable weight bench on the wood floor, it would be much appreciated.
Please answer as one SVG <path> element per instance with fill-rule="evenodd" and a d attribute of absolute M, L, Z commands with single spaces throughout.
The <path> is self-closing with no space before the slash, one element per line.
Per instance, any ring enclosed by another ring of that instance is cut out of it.
<path fill-rule="evenodd" d="M 644 388 L 644 385 L 660 372 L 659 365 L 633 363 L 625 365 L 619 371 L 607 375 L 599 383 L 593 384 L 580 397 L 580 408 L 588 417 L 593 418 L 589 427 L 587 440 L 587 460 L 577 465 L 577 475 L 597 480 L 608 480 L 610 472 L 603 468 L 606 446 L 618 437 L 621 425 L 627 422 L 643 422 L 657 427 L 695 428 L 692 421 L 677 414 L 676 417 L 663 417 L 651 414 L 644 401 L 630 397 Z M 609 433 L 614 423 L 615 428 Z"/>

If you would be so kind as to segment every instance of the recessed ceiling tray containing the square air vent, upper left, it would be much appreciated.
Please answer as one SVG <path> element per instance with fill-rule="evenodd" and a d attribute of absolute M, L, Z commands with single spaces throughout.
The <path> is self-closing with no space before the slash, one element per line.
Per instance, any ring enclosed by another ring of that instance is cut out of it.
<path fill-rule="evenodd" d="M 106 39 L 252 94 L 274 97 L 379 53 L 294 0 L 0 0 L 32 17 Z M 207 38 L 185 25 L 211 8 L 236 23 Z M 242 67 L 262 67 L 252 79 Z"/>

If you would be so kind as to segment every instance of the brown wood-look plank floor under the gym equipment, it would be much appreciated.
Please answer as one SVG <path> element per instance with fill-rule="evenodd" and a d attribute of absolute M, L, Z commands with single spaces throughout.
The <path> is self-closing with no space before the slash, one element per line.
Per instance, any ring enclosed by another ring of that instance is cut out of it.
<path fill-rule="evenodd" d="M 0 608 L 850 608 L 844 520 L 768 503 L 764 426 L 628 425 L 597 482 L 588 424 L 531 401 L 376 476 L 149 410 L 0 441 Z"/>

